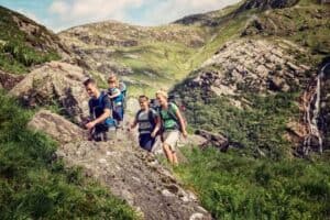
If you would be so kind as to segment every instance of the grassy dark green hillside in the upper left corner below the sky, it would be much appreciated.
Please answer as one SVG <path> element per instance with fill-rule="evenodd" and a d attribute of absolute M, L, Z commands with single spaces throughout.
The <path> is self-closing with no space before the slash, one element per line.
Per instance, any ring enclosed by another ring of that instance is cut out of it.
<path fill-rule="evenodd" d="M 20 30 L 14 16 L 21 22 L 35 25 L 35 33 Z M 24 74 L 33 65 L 61 58 L 55 48 L 45 46 L 47 40 L 44 36 L 51 35 L 45 28 L 2 7 L 0 7 L 0 68 L 6 72 Z"/>

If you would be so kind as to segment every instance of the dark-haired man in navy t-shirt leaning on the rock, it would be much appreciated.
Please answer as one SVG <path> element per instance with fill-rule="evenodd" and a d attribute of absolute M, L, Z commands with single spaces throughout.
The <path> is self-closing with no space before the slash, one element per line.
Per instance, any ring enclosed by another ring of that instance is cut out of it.
<path fill-rule="evenodd" d="M 90 121 L 85 125 L 89 131 L 89 140 L 108 141 L 109 128 L 116 127 L 111 118 L 111 102 L 105 91 L 100 91 L 91 78 L 84 81 L 90 99 L 88 102 Z"/>

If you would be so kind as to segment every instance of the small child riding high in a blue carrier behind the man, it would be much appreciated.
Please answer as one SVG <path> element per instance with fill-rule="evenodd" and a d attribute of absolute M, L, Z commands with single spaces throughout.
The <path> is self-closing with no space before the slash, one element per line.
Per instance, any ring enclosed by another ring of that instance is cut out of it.
<path fill-rule="evenodd" d="M 124 97 L 122 92 L 119 89 L 119 81 L 116 77 L 116 75 L 110 75 L 108 79 L 108 85 L 109 85 L 109 98 L 112 102 L 112 117 L 114 120 L 118 122 L 118 127 L 122 127 L 122 121 L 123 121 L 123 102 L 124 102 Z"/>

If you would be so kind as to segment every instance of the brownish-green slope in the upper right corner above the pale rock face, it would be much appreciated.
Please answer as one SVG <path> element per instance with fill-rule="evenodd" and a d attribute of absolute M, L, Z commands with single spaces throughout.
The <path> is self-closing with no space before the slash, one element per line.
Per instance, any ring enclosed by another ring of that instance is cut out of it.
<path fill-rule="evenodd" d="M 301 0 L 298 7 L 258 13 L 262 30 L 248 26 L 250 35 L 277 36 L 305 47 L 312 56 L 308 61 L 317 65 L 330 53 L 330 7 L 316 1 Z"/>

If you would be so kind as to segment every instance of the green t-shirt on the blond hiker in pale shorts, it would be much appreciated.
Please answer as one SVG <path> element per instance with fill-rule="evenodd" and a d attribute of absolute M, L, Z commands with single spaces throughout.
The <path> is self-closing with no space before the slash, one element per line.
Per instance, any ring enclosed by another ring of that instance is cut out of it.
<path fill-rule="evenodd" d="M 160 116 L 165 131 L 177 130 L 179 128 L 176 120 L 176 111 L 178 111 L 178 107 L 175 103 L 168 103 L 167 109 L 161 109 Z"/>

